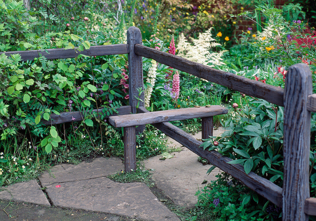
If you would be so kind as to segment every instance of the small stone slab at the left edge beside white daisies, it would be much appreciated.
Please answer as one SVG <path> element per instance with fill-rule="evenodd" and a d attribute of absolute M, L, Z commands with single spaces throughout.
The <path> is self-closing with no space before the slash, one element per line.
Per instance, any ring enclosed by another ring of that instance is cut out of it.
<path fill-rule="evenodd" d="M 1 200 L 13 200 L 51 206 L 36 180 L 15 183 L 9 187 L 2 187 L 1 189 L 3 189 L 3 191 L 0 192 Z"/>

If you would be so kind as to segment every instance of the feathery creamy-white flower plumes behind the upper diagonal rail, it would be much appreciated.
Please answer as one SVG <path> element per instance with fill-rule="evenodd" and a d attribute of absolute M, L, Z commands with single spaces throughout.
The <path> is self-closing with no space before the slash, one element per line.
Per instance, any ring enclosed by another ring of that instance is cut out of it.
<path fill-rule="evenodd" d="M 184 57 L 190 61 L 214 67 L 214 65 L 223 65 L 222 55 L 226 51 L 210 52 L 211 48 L 222 46 L 216 43 L 216 39 L 212 38 L 212 27 L 204 33 L 199 33 L 198 39 L 191 38 L 193 45 L 191 45 L 181 33 L 179 43 L 177 45 L 178 56 Z"/>

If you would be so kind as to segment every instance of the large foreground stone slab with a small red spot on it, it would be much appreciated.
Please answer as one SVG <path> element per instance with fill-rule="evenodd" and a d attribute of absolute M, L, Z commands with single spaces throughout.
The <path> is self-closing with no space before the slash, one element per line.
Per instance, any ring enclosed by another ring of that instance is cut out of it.
<path fill-rule="evenodd" d="M 150 189 L 138 182 L 119 183 L 106 177 L 64 182 L 46 192 L 54 206 L 107 212 L 143 220 L 180 220 L 157 200 Z"/>

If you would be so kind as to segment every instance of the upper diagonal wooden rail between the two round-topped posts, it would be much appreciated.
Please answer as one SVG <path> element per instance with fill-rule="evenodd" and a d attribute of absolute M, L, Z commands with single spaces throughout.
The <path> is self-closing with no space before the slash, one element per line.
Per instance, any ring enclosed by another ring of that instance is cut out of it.
<path fill-rule="evenodd" d="M 135 45 L 137 55 L 151 58 L 158 63 L 184 71 L 191 75 L 223 85 L 232 90 L 245 93 L 249 96 L 265 99 L 266 101 L 283 106 L 283 88 L 264 84 L 225 71 L 216 70 L 200 63 L 189 61 L 183 57 L 162 52 L 143 45 Z"/>

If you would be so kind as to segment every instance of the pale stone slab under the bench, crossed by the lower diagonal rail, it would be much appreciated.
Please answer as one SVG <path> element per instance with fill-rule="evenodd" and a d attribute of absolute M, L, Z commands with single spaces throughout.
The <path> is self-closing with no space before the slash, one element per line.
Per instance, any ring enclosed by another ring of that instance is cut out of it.
<path fill-rule="evenodd" d="M 223 128 L 214 130 L 214 136 L 224 132 Z M 193 135 L 196 139 L 201 139 L 202 132 Z M 181 147 L 177 141 L 169 138 L 169 146 Z M 215 177 L 222 171 L 215 168 L 210 175 L 207 175 L 207 170 L 212 165 L 203 165 L 198 162 L 198 155 L 183 147 L 183 151 L 174 152 L 174 158 L 160 160 L 161 156 L 155 156 L 144 161 L 144 166 L 147 169 L 153 169 L 152 178 L 158 188 L 170 197 L 173 202 L 180 206 L 193 207 L 197 203 L 195 196 L 198 188 L 204 187 L 201 184 L 204 180 L 216 180 Z"/>

